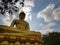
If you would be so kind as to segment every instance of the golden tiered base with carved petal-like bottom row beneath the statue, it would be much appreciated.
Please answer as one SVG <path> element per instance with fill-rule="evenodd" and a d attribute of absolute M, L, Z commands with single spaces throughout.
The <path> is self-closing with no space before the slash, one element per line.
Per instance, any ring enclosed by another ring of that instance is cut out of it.
<path fill-rule="evenodd" d="M 40 45 L 41 33 L 0 26 L 0 45 Z"/>

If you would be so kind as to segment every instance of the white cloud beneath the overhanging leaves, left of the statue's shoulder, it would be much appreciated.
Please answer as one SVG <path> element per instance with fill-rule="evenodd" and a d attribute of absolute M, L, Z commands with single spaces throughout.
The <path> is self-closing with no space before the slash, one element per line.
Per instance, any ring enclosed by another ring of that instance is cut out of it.
<path fill-rule="evenodd" d="M 9 15 L 8 12 L 4 15 L 0 15 L 0 25 L 10 25 L 10 22 L 15 19 L 15 15 Z"/>

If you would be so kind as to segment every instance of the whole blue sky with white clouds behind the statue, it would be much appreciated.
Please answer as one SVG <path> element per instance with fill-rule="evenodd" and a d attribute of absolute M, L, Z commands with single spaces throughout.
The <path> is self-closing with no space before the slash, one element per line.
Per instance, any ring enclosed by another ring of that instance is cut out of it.
<path fill-rule="evenodd" d="M 60 0 L 25 0 L 24 3 L 21 10 L 26 13 L 31 31 L 60 32 Z M 19 2 L 16 5 L 20 8 Z M 15 18 L 18 18 L 17 12 L 13 16 L 0 14 L 0 25 L 10 25 Z"/>

